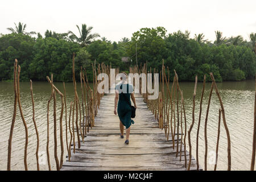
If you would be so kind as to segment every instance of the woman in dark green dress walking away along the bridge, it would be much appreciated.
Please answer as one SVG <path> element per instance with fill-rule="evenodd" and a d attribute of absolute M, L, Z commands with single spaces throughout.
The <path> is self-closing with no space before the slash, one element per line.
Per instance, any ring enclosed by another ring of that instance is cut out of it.
<path fill-rule="evenodd" d="M 123 138 L 123 126 L 126 127 L 126 140 L 125 143 L 129 144 L 129 135 L 131 130 L 131 123 L 134 124 L 131 119 L 131 100 L 133 100 L 134 107 L 136 108 L 135 97 L 133 93 L 133 85 L 127 84 L 127 74 L 121 73 L 121 84 L 115 86 L 115 108 L 114 114 L 120 119 L 120 137 Z M 119 100 L 118 100 L 119 98 Z M 131 98 L 131 100 L 130 100 Z M 118 104 L 117 104 L 118 101 Z"/>

